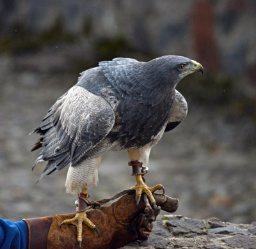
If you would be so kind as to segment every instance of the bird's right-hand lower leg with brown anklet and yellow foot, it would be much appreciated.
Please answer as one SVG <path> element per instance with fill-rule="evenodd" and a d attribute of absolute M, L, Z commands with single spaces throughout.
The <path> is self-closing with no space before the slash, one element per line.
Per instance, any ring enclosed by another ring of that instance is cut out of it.
<path fill-rule="evenodd" d="M 136 191 L 136 204 L 138 205 L 141 199 L 142 193 L 145 193 L 150 199 L 151 206 L 153 209 L 156 208 L 156 200 L 153 197 L 153 192 L 156 190 L 164 190 L 161 184 L 158 184 L 152 188 L 148 187 L 143 181 L 143 175 L 145 172 L 143 171 L 142 163 L 139 161 L 129 162 L 129 165 L 132 166 L 132 176 L 136 177 L 136 185 L 132 186 L 131 189 Z"/>

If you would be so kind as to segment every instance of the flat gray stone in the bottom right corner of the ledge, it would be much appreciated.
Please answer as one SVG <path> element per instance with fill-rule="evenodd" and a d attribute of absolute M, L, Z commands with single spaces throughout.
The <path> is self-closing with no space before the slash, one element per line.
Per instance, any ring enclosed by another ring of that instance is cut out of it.
<path fill-rule="evenodd" d="M 255 249 L 256 248 L 256 238 L 252 238 L 244 235 L 235 235 L 230 238 L 222 239 L 231 248 L 243 248 L 243 249 Z"/>

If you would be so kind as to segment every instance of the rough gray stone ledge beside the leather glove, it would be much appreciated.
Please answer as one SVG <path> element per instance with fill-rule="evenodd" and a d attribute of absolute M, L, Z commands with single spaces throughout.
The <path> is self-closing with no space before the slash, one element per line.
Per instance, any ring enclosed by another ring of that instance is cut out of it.
<path fill-rule="evenodd" d="M 212 228 L 212 224 L 222 227 Z M 122 249 L 256 249 L 255 224 L 197 220 L 180 215 L 160 215 L 148 241 L 135 241 Z M 193 232 L 192 232 L 193 231 Z"/>

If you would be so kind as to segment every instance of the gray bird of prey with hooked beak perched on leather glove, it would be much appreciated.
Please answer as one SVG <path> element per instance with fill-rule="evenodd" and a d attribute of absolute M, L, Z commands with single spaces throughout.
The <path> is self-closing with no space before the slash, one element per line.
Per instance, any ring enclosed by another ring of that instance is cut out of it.
<path fill-rule="evenodd" d="M 175 89 L 178 82 L 194 72 L 200 63 L 182 56 L 162 56 L 148 62 L 130 58 L 102 61 L 81 73 L 78 82 L 47 112 L 34 132 L 40 139 L 31 151 L 42 147 L 35 165 L 48 162 L 40 179 L 69 165 L 65 183 L 68 193 L 79 193 L 77 214 L 64 223 L 77 226 L 81 245 L 82 223 L 100 231 L 86 218 L 90 201 L 87 190 L 97 185 L 102 155 L 126 149 L 136 177 L 137 203 L 142 193 L 156 202 L 143 181 L 150 150 L 164 132 L 175 128 L 187 115 L 187 103 Z M 144 165 L 142 166 L 141 161 Z"/>

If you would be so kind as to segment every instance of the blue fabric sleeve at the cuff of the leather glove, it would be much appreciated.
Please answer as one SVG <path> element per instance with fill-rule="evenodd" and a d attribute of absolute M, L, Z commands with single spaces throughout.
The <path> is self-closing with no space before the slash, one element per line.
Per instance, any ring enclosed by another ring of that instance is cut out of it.
<path fill-rule="evenodd" d="M 27 249 L 28 226 L 26 222 L 11 222 L 0 218 L 0 248 Z"/>

